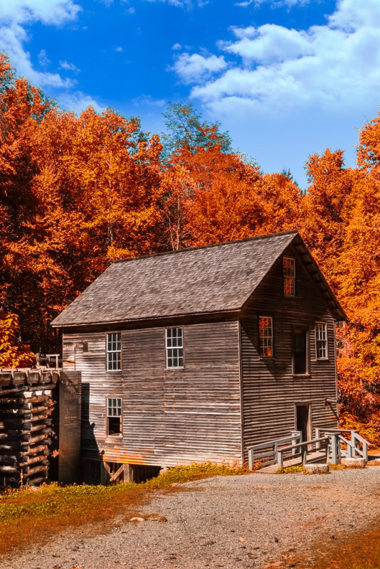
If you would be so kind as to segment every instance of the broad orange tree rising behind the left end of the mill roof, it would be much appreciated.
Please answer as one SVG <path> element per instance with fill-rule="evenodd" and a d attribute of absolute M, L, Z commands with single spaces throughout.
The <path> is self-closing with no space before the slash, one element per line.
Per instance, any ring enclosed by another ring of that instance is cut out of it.
<path fill-rule="evenodd" d="M 112 260 L 159 247 L 160 151 L 158 137 L 148 141 L 137 121 L 110 110 L 98 115 L 90 107 L 77 118 L 54 109 L 36 129 L 38 208 L 24 220 L 14 256 L 23 255 L 16 264 L 24 274 L 37 276 L 33 326 L 38 320 L 41 338 L 54 341 L 51 319 Z"/>

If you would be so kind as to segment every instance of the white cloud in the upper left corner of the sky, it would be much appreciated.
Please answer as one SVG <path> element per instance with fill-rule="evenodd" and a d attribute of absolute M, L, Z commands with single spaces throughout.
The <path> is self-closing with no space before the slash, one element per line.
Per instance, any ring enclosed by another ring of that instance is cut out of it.
<path fill-rule="evenodd" d="M 72 87 L 75 83 L 63 79 L 59 73 L 36 71 L 25 48 L 28 36 L 26 24 L 41 22 L 44 25 L 62 26 L 75 20 L 80 6 L 72 0 L 0 0 L 0 50 L 11 59 L 19 75 L 25 75 L 41 87 Z M 51 63 L 45 50 L 38 55 L 38 63 L 46 67 Z"/>

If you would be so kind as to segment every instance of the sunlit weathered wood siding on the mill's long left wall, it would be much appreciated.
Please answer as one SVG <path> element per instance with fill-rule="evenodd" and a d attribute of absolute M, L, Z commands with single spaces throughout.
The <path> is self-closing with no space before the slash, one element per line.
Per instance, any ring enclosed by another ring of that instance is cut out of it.
<path fill-rule="evenodd" d="M 63 369 L 82 373 L 84 458 L 161 466 L 241 460 L 238 322 L 183 328 L 184 368 L 176 370 L 165 369 L 163 326 L 122 330 L 122 371 L 112 372 L 105 332 L 63 335 Z M 122 398 L 122 435 L 105 434 L 107 397 Z"/>

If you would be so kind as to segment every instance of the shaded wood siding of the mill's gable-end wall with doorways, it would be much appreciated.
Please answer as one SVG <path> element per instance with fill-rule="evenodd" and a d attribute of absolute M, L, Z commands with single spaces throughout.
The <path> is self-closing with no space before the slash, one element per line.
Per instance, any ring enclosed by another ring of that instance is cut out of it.
<path fill-rule="evenodd" d="M 337 427 L 334 320 L 317 286 L 294 248 L 285 253 L 296 260 L 296 296 L 283 294 L 280 258 L 241 312 L 241 373 L 243 445 L 265 442 L 295 429 L 295 404 L 311 403 L 312 429 Z M 273 318 L 274 357 L 260 358 L 258 318 Z M 315 322 L 327 322 L 328 360 L 317 360 Z M 309 375 L 293 376 L 292 329 L 307 328 Z"/>

